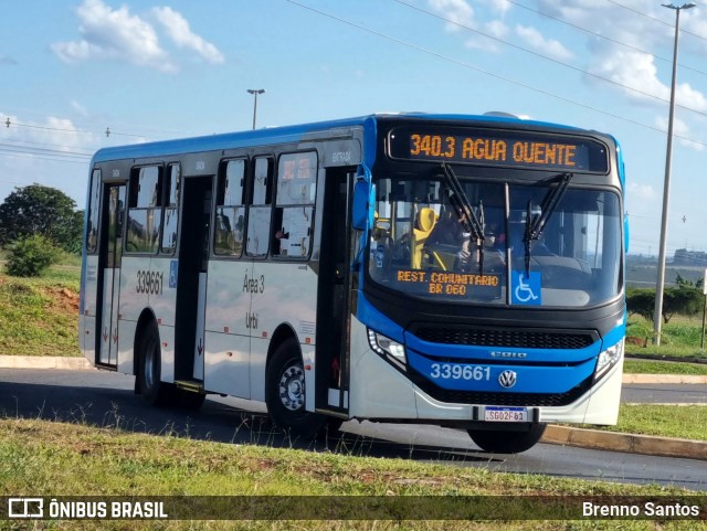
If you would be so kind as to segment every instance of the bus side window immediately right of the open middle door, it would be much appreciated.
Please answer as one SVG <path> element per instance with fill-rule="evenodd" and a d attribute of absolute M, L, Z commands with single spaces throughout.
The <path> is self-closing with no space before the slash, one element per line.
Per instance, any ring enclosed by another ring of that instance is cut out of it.
<path fill-rule="evenodd" d="M 241 256 L 243 249 L 245 160 L 222 164 L 217 185 L 213 252 Z"/>

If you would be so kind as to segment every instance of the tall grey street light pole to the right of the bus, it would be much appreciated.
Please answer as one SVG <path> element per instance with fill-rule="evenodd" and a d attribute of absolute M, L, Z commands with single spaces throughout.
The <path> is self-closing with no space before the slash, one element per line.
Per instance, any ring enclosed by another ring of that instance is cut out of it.
<path fill-rule="evenodd" d="M 677 78 L 677 40 L 679 36 L 680 11 L 694 8 L 695 3 L 673 6 L 662 4 L 675 10 L 675 44 L 673 46 L 673 82 L 671 84 L 671 111 L 667 120 L 667 150 L 665 155 L 665 180 L 663 182 L 663 215 L 661 217 L 661 248 L 658 252 L 658 278 L 655 286 L 655 308 L 653 310 L 653 344 L 661 344 L 663 325 L 663 290 L 665 288 L 665 255 L 667 252 L 667 205 L 671 193 L 671 170 L 673 163 L 673 120 L 675 118 L 675 85 Z"/>

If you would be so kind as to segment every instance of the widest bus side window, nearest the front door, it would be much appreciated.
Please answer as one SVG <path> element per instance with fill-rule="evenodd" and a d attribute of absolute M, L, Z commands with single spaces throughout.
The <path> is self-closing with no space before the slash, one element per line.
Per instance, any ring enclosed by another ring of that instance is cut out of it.
<path fill-rule="evenodd" d="M 277 166 L 273 255 L 306 259 L 312 249 L 317 153 L 288 153 Z"/>

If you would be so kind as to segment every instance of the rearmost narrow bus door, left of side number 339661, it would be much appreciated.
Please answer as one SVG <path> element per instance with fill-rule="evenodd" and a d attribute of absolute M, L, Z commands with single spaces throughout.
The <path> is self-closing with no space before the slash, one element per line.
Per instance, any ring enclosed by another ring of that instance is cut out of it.
<path fill-rule="evenodd" d="M 118 363 L 118 305 L 120 293 L 120 258 L 123 249 L 123 213 L 125 209 L 125 184 L 105 187 L 104 230 L 101 248 L 101 274 L 103 276 L 99 300 L 101 340 L 97 362 L 117 367 Z M 99 280 L 101 282 L 101 280 Z"/>

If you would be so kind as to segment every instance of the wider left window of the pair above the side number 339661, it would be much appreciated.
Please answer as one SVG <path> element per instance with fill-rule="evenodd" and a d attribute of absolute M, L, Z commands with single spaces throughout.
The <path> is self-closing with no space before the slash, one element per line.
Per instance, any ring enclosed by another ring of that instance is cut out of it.
<path fill-rule="evenodd" d="M 156 253 L 161 224 L 162 172 L 158 166 L 134 170 L 128 201 L 128 253 Z"/>

